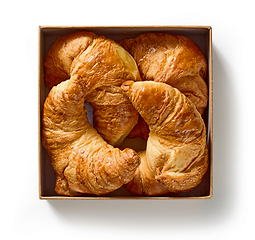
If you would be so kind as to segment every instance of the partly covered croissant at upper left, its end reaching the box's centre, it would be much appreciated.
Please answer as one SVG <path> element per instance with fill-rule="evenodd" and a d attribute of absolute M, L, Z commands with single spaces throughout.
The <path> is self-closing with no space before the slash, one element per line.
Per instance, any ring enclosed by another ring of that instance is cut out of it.
<path fill-rule="evenodd" d="M 44 65 L 49 87 L 69 78 L 82 80 L 93 125 L 108 143 L 120 144 L 136 125 L 138 113 L 120 86 L 140 80 L 140 73 L 131 55 L 113 40 L 91 32 L 69 34 L 53 44 Z"/>

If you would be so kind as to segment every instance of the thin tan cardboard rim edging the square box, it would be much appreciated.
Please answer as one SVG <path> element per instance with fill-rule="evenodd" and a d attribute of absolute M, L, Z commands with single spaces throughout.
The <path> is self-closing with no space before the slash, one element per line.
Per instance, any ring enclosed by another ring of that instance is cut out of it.
<path fill-rule="evenodd" d="M 42 141 L 41 141 L 41 78 L 42 78 L 42 72 L 43 72 L 43 61 L 42 61 L 42 34 L 43 30 L 47 29 L 84 29 L 84 28 L 91 28 L 91 29 L 205 29 L 208 31 L 209 34 L 209 55 L 208 55 L 208 65 L 209 65 L 209 160 L 210 160 L 210 190 L 209 195 L 206 196 L 198 196 L 198 197 L 192 197 L 192 196 L 185 196 L 185 197 L 167 197 L 167 196 L 82 196 L 82 197 L 67 197 L 67 196 L 43 196 L 42 195 L 42 159 L 41 159 L 41 147 L 42 147 Z M 211 199 L 213 197 L 213 56 L 212 56 L 212 27 L 205 25 L 126 25 L 126 26 L 50 26 L 50 25 L 41 25 L 39 26 L 39 46 L 38 46 L 38 151 L 39 151 L 39 168 L 38 168 L 38 176 L 39 176 L 39 199 L 41 200 L 187 200 L 187 199 Z"/>

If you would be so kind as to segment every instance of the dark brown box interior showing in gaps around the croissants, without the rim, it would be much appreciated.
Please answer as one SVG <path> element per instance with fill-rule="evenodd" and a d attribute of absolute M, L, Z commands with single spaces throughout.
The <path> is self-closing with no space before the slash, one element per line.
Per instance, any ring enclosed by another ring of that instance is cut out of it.
<path fill-rule="evenodd" d="M 138 36 L 141 33 L 144 32 L 167 32 L 174 35 L 183 35 L 189 37 L 192 41 L 194 41 L 198 47 L 201 49 L 203 54 L 205 55 L 208 66 L 209 66 L 209 33 L 208 29 L 171 29 L 171 28 L 105 28 L 105 27 L 78 27 L 78 28 L 42 28 L 40 32 L 40 67 L 39 67 L 39 80 L 40 80 L 40 112 L 42 110 L 42 106 L 44 103 L 44 100 L 47 97 L 47 94 L 49 92 L 49 89 L 45 86 L 44 83 L 44 74 L 43 74 L 43 59 L 45 58 L 47 52 L 49 51 L 50 47 L 54 44 L 54 42 L 67 34 L 70 34 L 72 32 L 77 31 L 92 31 L 97 35 L 104 35 L 108 38 L 112 38 L 113 40 L 122 40 L 125 38 L 133 38 Z M 208 68 L 209 71 L 209 68 Z M 207 74 L 206 78 L 207 86 L 209 88 L 209 74 Z M 210 92 L 210 89 L 209 89 Z M 87 106 L 87 105 L 85 105 Z M 209 103 L 208 103 L 209 106 Z M 205 120 L 205 125 L 208 130 L 209 135 L 209 119 L 210 119 L 210 112 L 207 109 L 205 110 L 205 113 L 203 115 L 203 118 Z M 93 111 L 88 111 L 88 116 L 90 119 L 93 117 Z M 40 139 L 39 139 L 40 140 Z M 138 146 L 138 150 L 140 148 L 144 148 L 143 144 L 145 144 L 140 139 L 127 139 L 127 144 L 133 144 L 134 148 Z M 140 145 L 142 144 L 142 145 Z M 42 197 L 60 197 L 56 194 L 54 191 L 55 187 L 55 174 L 54 170 L 51 166 L 51 161 L 48 156 L 48 153 L 43 148 L 43 146 L 40 144 L 40 194 Z M 137 149 L 135 149 L 137 150 Z M 210 166 L 209 166 L 210 169 Z M 203 181 L 200 185 L 198 185 L 195 189 L 191 190 L 190 192 L 183 192 L 183 193 L 169 193 L 162 197 L 206 197 L 210 195 L 210 171 L 208 170 L 206 175 L 203 178 Z M 89 197 L 95 197 L 100 198 L 97 196 L 91 196 Z M 104 198 L 119 198 L 119 197 L 136 197 L 132 193 L 130 193 L 126 188 L 122 187 L 112 193 L 106 194 L 103 196 Z M 86 198 L 85 197 L 77 197 L 77 198 Z M 146 197 L 145 197 L 146 198 Z"/>

